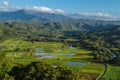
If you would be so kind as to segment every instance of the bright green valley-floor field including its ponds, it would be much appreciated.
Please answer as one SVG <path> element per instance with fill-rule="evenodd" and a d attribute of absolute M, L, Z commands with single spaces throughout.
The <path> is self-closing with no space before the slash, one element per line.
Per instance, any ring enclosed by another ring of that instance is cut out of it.
<path fill-rule="evenodd" d="M 104 70 L 104 65 L 93 63 L 92 51 L 84 48 L 71 48 L 69 45 L 57 42 L 27 42 L 6 40 L 0 44 L 3 47 L 1 53 L 4 51 L 6 57 L 9 58 L 14 64 L 28 64 L 33 61 L 44 61 L 52 64 L 53 66 L 61 66 L 72 69 L 76 73 L 82 73 L 82 80 L 92 80 L 86 76 L 94 75 L 96 78 Z M 53 58 L 42 58 L 36 56 L 37 48 L 42 49 L 47 56 L 54 56 Z M 73 54 L 73 55 L 71 55 Z M 86 76 L 84 76 L 86 75 Z"/>

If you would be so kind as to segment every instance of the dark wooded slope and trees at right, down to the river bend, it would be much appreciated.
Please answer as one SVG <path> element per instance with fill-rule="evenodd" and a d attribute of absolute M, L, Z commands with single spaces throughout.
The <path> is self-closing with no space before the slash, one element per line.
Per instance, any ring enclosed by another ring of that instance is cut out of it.
<path fill-rule="evenodd" d="M 95 59 L 119 63 L 120 26 L 87 33 L 81 40 L 83 46 L 93 50 Z M 116 55 L 116 56 L 114 56 Z M 116 60 L 116 61 L 115 61 Z"/>

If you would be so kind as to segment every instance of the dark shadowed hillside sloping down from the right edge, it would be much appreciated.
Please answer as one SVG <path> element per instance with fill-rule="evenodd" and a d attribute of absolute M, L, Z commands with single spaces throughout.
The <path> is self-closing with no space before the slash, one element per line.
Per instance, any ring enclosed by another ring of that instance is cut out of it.
<path fill-rule="evenodd" d="M 86 36 L 86 39 L 89 39 L 89 41 L 101 42 L 101 44 L 103 44 L 102 42 L 106 42 L 120 48 L 120 25 L 89 32 Z"/>

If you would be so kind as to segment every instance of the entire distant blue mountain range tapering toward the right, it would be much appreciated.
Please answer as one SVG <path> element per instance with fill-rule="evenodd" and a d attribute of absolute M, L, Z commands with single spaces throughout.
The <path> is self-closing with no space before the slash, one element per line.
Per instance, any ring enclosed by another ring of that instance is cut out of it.
<path fill-rule="evenodd" d="M 70 20 L 105 20 L 113 19 L 98 16 L 86 16 L 82 14 L 59 14 L 40 11 L 17 10 L 11 12 L 0 12 L 0 20 L 39 20 L 39 21 L 70 21 Z"/>

